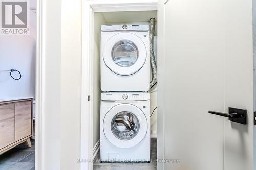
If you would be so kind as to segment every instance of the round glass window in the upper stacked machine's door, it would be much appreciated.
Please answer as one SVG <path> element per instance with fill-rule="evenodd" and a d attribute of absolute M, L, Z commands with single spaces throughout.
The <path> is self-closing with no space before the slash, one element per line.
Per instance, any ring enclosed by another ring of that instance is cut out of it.
<path fill-rule="evenodd" d="M 130 40 L 118 41 L 112 48 L 112 59 L 121 67 L 133 65 L 139 56 L 137 46 Z"/>

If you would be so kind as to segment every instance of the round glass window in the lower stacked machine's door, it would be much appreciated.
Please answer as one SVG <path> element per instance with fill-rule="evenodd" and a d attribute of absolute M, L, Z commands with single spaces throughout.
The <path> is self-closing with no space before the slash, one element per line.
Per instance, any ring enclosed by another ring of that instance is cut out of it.
<path fill-rule="evenodd" d="M 116 114 L 111 122 L 112 133 L 121 140 L 130 140 L 139 132 L 140 123 L 136 115 L 123 111 Z"/>

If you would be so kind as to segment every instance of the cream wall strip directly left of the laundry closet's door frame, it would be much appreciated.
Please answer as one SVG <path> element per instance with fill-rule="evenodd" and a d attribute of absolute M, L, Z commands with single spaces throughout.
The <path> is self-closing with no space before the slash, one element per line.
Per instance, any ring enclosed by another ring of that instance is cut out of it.
<path fill-rule="evenodd" d="M 82 3 L 61 1 L 60 169 L 79 169 Z"/>

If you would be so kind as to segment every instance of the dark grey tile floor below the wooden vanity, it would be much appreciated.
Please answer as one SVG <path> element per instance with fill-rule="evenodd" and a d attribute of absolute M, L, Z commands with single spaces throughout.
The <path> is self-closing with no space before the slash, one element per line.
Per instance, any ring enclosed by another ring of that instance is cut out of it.
<path fill-rule="evenodd" d="M 31 170 L 35 169 L 35 141 L 31 140 L 32 147 L 26 142 L 0 155 L 1 170 Z"/>

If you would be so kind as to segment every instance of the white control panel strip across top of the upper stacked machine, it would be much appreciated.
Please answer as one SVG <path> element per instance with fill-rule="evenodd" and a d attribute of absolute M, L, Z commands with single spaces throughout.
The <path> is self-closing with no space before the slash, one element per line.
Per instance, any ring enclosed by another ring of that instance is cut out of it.
<path fill-rule="evenodd" d="M 101 31 L 148 31 L 147 24 L 101 25 Z"/>

